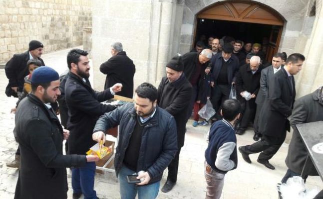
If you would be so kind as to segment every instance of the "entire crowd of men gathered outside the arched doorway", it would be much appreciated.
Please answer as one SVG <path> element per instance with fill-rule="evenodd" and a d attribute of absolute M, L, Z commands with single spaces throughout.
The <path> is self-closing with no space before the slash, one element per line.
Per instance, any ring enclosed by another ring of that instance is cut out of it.
<path fill-rule="evenodd" d="M 94 177 L 99 158 L 86 151 L 105 140 L 107 130 L 115 126 L 119 126 L 119 139 L 114 168 L 121 199 L 136 195 L 155 199 L 166 168 L 167 181 L 161 190 L 171 191 L 177 183 L 179 155 L 193 109 L 193 126 L 213 122 L 205 152 L 207 199 L 220 198 L 224 175 L 238 166 L 236 134 L 244 134 L 249 125 L 254 127 L 257 142 L 239 147 L 243 159 L 251 163 L 249 154 L 262 152 L 257 161 L 275 169 L 269 160 L 285 140 L 288 117 L 292 115 L 294 132 L 297 123 L 323 119 L 317 111 L 311 112 L 323 109 L 322 88 L 298 100 L 293 109 L 293 76 L 302 69 L 302 54 L 277 53 L 270 65 L 259 43 L 213 37 L 208 41 L 207 45 L 199 41 L 191 52 L 174 56 L 158 88 L 142 83 L 134 97 L 135 65 L 121 43 L 111 45 L 112 57 L 100 66 L 107 77 L 104 90 L 97 92 L 88 80 L 86 51 L 72 49 L 67 55 L 68 73 L 59 77 L 41 60 L 42 43 L 30 41 L 28 51 L 13 56 L 5 67 L 6 95 L 19 97 L 13 108 L 19 147 L 15 160 L 7 163 L 20 168 L 15 199 L 66 199 L 66 167 L 72 171 L 73 199 L 82 195 L 97 199 Z M 133 97 L 134 102 L 118 107 L 101 103 L 115 94 Z M 208 100 L 216 110 L 210 121 L 197 114 Z M 62 152 L 64 139 L 67 155 Z M 292 155 L 295 149 L 299 156 Z M 294 133 L 283 182 L 301 175 L 306 155 L 299 134 Z M 138 174 L 138 182 L 128 181 L 133 174 Z M 314 169 L 308 175 L 316 174 Z"/>

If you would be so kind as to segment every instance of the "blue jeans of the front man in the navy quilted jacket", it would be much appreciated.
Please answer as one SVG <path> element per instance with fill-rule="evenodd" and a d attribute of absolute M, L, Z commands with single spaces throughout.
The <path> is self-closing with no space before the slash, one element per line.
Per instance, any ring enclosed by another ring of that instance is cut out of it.
<path fill-rule="evenodd" d="M 136 184 L 129 184 L 127 175 L 136 173 L 122 166 L 118 178 L 120 181 L 120 195 L 121 199 L 135 199 L 138 193 L 138 199 L 155 199 L 158 196 L 160 181 L 146 186 L 137 186 Z"/>

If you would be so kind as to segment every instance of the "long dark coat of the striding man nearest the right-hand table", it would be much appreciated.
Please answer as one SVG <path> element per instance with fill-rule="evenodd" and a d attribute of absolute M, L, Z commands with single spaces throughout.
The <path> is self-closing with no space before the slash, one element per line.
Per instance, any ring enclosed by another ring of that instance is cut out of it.
<path fill-rule="evenodd" d="M 290 131 L 287 117 L 292 114 L 295 101 L 295 81 L 293 89 L 284 68 L 275 73 L 269 83 L 269 97 L 265 100 L 260 113 L 259 131 L 267 136 L 280 137 L 284 131 Z"/>

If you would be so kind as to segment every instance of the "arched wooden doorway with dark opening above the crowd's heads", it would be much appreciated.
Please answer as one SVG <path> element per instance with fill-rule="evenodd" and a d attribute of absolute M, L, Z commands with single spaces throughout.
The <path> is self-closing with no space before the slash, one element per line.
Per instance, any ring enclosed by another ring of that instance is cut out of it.
<path fill-rule="evenodd" d="M 262 43 L 267 37 L 266 60 L 277 53 L 284 26 L 283 17 L 274 9 L 245 0 L 226 0 L 201 10 L 196 17 L 194 44 L 204 34 L 232 36 L 243 41 Z"/>

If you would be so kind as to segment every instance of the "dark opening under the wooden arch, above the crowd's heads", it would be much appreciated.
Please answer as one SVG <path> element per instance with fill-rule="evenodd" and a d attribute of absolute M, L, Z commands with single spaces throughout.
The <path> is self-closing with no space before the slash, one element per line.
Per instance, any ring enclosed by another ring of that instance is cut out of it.
<path fill-rule="evenodd" d="M 223 36 L 230 36 L 245 43 L 264 44 L 264 53 L 267 54 L 267 47 L 274 25 L 198 18 L 196 27 L 194 45 L 202 35 L 206 36 L 206 46 L 209 37 L 221 39 Z"/>

